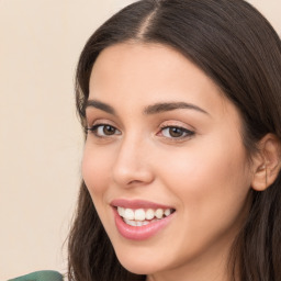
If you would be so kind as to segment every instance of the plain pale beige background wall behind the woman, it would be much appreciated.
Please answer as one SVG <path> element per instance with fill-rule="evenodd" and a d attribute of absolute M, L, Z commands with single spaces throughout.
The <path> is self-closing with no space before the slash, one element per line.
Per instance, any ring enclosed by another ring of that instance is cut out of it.
<path fill-rule="evenodd" d="M 66 271 L 80 179 L 74 72 L 125 0 L 0 0 L 0 280 Z M 280 0 L 251 0 L 281 31 Z"/>

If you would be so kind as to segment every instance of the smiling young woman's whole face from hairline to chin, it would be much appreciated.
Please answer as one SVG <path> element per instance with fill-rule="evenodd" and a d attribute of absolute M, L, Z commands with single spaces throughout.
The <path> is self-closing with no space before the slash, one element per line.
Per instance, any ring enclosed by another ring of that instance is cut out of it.
<path fill-rule="evenodd" d="M 86 113 L 82 175 L 121 263 L 218 276 L 252 178 L 235 106 L 178 52 L 124 43 L 98 57 Z"/>

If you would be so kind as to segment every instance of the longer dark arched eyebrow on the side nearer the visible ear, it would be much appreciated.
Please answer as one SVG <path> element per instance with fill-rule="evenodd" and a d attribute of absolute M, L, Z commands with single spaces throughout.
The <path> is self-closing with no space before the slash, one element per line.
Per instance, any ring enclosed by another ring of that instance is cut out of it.
<path fill-rule="evenodd" d="M 145 114 L 157 114 L 157 113 L 172 111 L 172 110 L 179 110 L 179 109 L 195 110 L 198 112 L 201 112 L 201 113 L 210 115 L 209 112 L 206 112 L 205 110 L 199 108 L 198 105 L 192 104 L 192 103 L 186 103 L 186 102 L 155 103 L 153 105 L 146 106 L 145 110 L 144 110 L 144 113 Z"/>

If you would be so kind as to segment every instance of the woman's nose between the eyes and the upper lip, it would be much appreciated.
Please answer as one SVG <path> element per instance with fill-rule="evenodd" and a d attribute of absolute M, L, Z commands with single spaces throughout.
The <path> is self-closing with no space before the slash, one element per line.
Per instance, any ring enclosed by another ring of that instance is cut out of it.
<path fill-rule="evenodd" d="M 126 139 L 117 148 L 112 175 L 114 182 L 123 188 L 146 186 L 154 180 L 150 151 L 145 142 Z"/>

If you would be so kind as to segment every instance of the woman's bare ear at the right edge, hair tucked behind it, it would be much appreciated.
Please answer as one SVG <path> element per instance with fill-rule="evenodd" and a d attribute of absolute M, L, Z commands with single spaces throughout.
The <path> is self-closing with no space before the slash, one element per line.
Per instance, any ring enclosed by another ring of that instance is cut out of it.
<path fill-rule="evenodd" d="M 263 191 L 270 187 L 280 171 L 281 145 L 273 134 L 267 134 L 258 144 L 259 151 L 252 157 L 251 188 Z"/>

